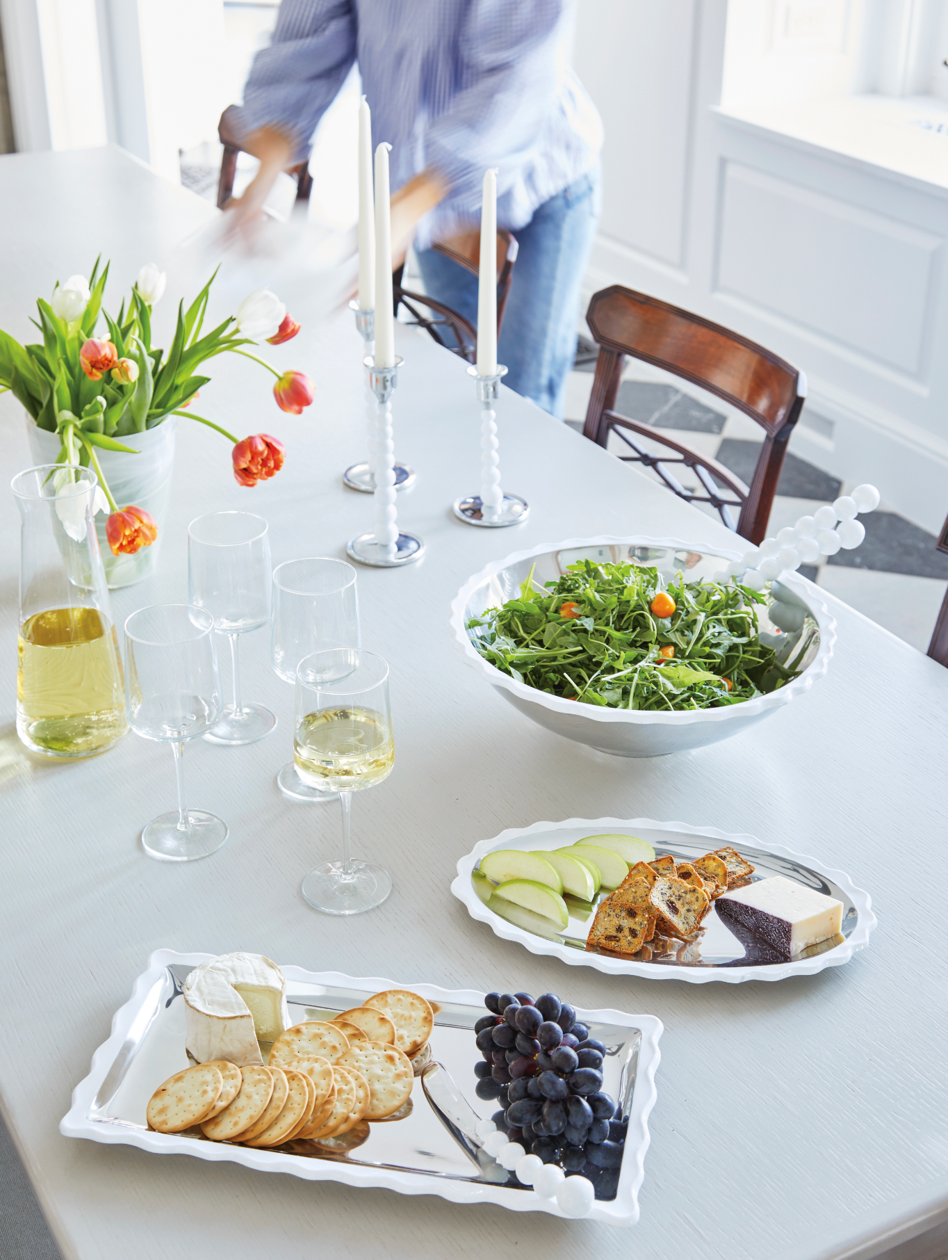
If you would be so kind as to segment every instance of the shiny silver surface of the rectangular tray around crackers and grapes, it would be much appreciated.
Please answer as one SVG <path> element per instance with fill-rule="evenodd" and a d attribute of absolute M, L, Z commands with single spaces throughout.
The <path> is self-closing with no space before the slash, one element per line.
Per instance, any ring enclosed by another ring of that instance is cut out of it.
<path fill-rule="evenodd" d="M 185 1012 L 181 984 L 189 966 L 171 964 L 147 994 L 128 1037 L 110 1068 L 87 1119 L 145 1129 L 145 1109 L 162 1081 L 188 1066 L 184 1048 Z M 368 997 L 356 989 L 290 982 L 293 1022 L 332 1018 Z M 481 1058 L 473 1026 L 485 1007 L 433 1003 L 432 1065 L 415 1077 L 404 1119 L 360 1124 L 345 1139 L 326 1144 L 295 1140 L 273 1148 L 303 1159 L 331 1159 L 408 1173 L 528 1189 L 512 1172 L 481 1150 L 475 1126 L 499 1108 L 480 1099 L 473 1068 Z M 607 1047 L 603 1089 L 621 1104 L 627 1119 L 636 1089 L 641 1031 L 613 1023 L 589 1023 L 590 1036 Z M 264 1057 L 267 1048 L 264 1048 Z M 180 1135 L 179 1135 L 180 1137 Z M 200 1129 L 184 1137 L 206 1142 Z M 616 1176 L 595 1186 L 597 1198 L 616 1197 Z"/>

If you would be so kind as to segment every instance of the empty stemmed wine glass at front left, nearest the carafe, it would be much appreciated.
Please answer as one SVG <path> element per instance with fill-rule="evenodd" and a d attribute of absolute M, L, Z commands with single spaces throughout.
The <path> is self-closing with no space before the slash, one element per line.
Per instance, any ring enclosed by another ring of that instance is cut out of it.
<path fill-rule="evenodd" d="M 132 612 L 125 622 L 125 703 L 132 731 L 170 743 L 175 755 L 178 811 L 152 818 L 141 833 L 145 852 L 162 862 L 194 862 L 217 852 L 227 823 L 184 804 L 184 746 L 205 735 L 220 713 L 210 612 L 189 604 Z"/>

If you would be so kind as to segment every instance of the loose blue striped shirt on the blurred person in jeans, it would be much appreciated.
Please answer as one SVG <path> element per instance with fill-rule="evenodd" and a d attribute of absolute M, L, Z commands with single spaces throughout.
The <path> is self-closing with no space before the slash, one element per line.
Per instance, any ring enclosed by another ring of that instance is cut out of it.
<path fill-rule="evenodd" d="M 393 190 L 426 168 L 451 192 L 420 247 L 480 220 L 496 166 L 497 224 L 515 231 L 595 161 L 602 125 L 569 66 L 573 0 L 282 0 L 238 117 L 273 126 L 297 160 L 358 62 L 373 146 L 392 144 Z"/>

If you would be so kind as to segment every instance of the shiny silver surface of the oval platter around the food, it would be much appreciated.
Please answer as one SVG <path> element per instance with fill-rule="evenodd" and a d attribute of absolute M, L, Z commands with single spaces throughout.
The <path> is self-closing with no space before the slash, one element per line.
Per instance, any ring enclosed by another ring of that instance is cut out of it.
<path fill-rule="evenodd" d="M 690 862 L 694 858 L 700 858 L 704 853 L 711 852 L 716 843 L 708 837 L 676 832 L 636 830 L 635 834 L 640 839 L 647 840 L 655 848 L 658 857 L 670 853 L 676 862 Z M 559 849 L 574 844 L 588 835 L 590 835 L 588 828 L 567 827 L 548 834 L 538 832 L 536 834 L 525 837 L 522 844 L 511 844 L 509 847 Z M 755 883 L 758 879 L 767 879 L 770 876 L 782 874 L 788 879 L 794 879 L 797 883 L 804 885 L 807 888 L 826 893 L 828 897 L 836 897 L 842 902 L 841 935 L 811 946 L 811 949 L 804 950 L 797 958 L 813 958 L 817 954 L 826 954 L 841 945 L 854 931 L 857 922 L 856 907 L 838 885 L 792 858 L 778 857 L 773 853 L 765 853 L 762 849 L 747 845 L 742 845 L 739 852 L 755 868 L 750 877 L 752 883 Z M 485 877 L 480 876 L 478 871 L 480 864 L 475 869 L 472 879 L 475 890 L 481 900 L 483 900 L 487 890 L 485 887 Z M 544 940 L 559 941 L 561 945 L 582 950 L 583 953 L 593 953 L 593 950 L 587 949 L 587 936 L 593 924 L 595 906 L 601 901 L 604 901 L 607 896 L 608 892 L 602 891 L 594 902 L 583 902 L 575 897 L 567 896 L 564 900 L 569 910 L 569 924 L 561 931 L 549 919 L 543 919 L 530 910 L 522 910 L 520 906 L 505 902 L 500 897 L 491 897 L 487 901 L 487 906 L 501 919 L 507 920 L 507 922 L 514 924 L 524 931 L 533 932 L 535 936 L 541 936 Z M 742 937 L 738 937 L 734 930 L 730 926 L 725 926 L 723 920 L 718 917 L 714 907 L 711 907 L 705 917 L 703 929 L 694 941 L 676 941 L 675 948 L 669 954 L 656 955 L 650 949 L 646 949 L 640 950 L 638 954 L 609 954 L 608 956 L 628 958 L 636 963 L 647 963 L 653 966 L 768 966 L 776 964 L 786 965 L 788 961 L 763 941 L 755 940 L 749 934 L 743 934 Z M 648 956 L 650 953 L 651 956 Z"/>

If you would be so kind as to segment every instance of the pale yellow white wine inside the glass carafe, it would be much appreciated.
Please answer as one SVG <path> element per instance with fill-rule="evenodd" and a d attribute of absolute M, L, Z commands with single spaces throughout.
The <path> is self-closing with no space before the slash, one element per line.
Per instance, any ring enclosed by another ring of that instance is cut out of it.
<path fill-rule="evenodd" d="M 97 609 L 49 609 L 20 627 L 16 727 L 28 747 L 65 757 L 125 735 L 125 679 L 115 626 Z"/>

